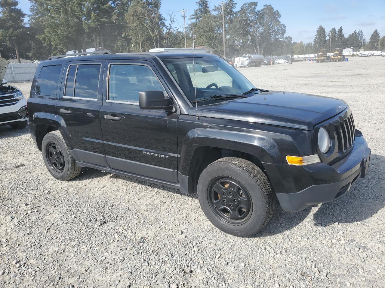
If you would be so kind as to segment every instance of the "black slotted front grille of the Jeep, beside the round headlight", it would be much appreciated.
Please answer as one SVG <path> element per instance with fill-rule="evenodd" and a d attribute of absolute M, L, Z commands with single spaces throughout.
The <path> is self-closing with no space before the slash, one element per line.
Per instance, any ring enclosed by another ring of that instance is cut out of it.
<path fill-rule="evenodd" d="M 352 113 L 334 125 L 336 133 L 336 145 L 338 145 L 338 155 L 341 156 L 350 151 L 354 145 L 355 127 Z"/>

